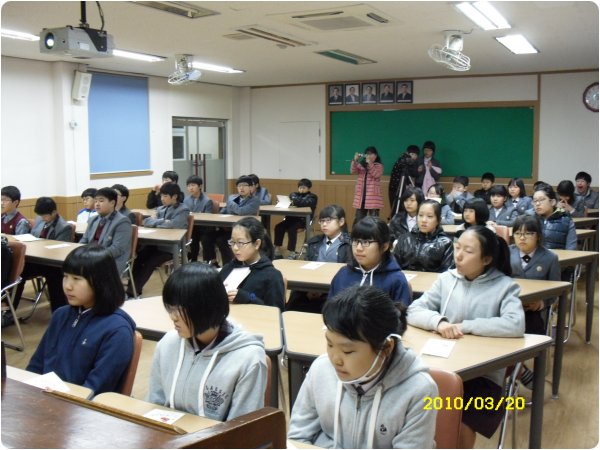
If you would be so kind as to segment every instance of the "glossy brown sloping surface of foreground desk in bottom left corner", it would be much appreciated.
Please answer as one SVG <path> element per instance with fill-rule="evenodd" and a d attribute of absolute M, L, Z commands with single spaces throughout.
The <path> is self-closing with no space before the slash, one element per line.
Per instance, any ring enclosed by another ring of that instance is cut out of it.
<path fill-rule="evenodd" d="M 155 429 L 6 379 L 2 382 L 2 443 L 16 448 L 182 448 L 198 434 Z M 35 407 L 32 407 L 35 405 Z"/>

